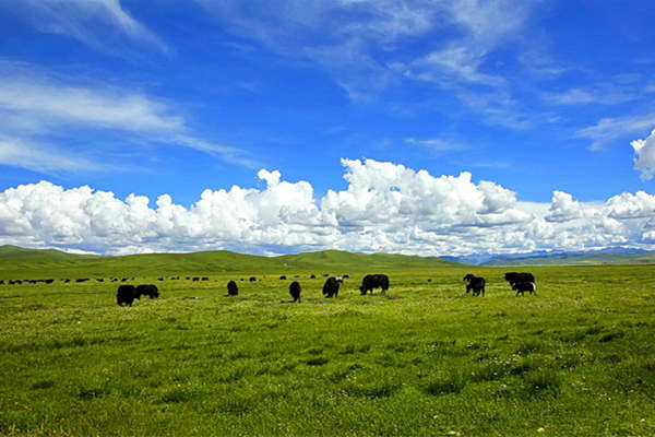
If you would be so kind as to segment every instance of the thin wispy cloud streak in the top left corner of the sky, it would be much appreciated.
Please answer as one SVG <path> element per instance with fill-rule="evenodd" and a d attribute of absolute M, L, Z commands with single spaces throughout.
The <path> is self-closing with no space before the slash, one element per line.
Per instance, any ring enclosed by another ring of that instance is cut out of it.
<path fill-rule="evenodd" d="M 14 8 L 24 10 L 41 32 L 73 37 L 96 50 L 122 56 L 124 49 L 117 46 L 124 46 L 127 39 L 168 51 L 167 45 L 134 20 L 120 0 L 23 0 Z"/>

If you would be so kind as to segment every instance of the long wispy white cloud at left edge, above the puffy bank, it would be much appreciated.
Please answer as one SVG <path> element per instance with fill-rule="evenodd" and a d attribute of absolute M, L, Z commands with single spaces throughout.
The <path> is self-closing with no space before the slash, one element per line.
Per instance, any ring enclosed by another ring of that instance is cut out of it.
<path fill-rule="evenodd" d="M 198 138 L 169 102 L 129 88 L 71 85 L 27 69 L 0 62 L 0 129 L 14 139 L 11 146 L 4 141 L 0 164 L 61 170 L 100 167 L 88 158 L 74 158 L 68 144 L 44 145 L 58 141 L 52 138 L 62 133 L 96 130 L 119 133 L 124 142 L 145 139 L 151 144 L 194 149 L 251 168 L 260 166 L 243 150 Z M 50 158 L 40 161 L 46 155 Z"/>

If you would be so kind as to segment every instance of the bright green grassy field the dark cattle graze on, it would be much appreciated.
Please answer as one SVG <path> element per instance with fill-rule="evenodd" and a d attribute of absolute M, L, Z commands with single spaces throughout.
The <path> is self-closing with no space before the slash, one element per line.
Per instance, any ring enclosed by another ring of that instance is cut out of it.
<path fill-rule="evenodd" d="M 57 282 L 0 285 L 0 435 L 655 435 L 654 267 L 529 268 L 537 295 L 515 297 L 508 269 L 407 262 L 360 296 L 379 265 L 326 257 L 340 270 L 133 259 L 162 297 L 131 308 L 115 283 L 59 281 L 123 273 L 102 260 L 7 261 L 0 279 Z M 352 277 L 325 299 L 310 273 Z"/>

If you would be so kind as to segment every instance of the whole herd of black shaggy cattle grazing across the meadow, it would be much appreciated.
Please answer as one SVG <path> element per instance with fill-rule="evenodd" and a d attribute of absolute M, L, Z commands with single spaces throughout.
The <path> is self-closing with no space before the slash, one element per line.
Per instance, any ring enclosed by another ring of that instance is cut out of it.
<path fill-rule="evenodd" d="M 323 284 L 323 295 L 325 297 L 337 297 L 338 296 L 338 288 L 341 286 L 341 284 L 343 284 L 344 279 L 349 277 L 347 274 L 344 274 L 342 276 L 330 276 L 329 274 L 325 274 L 324 276 L 329 276 L 325 280 L 325 283 Z M 312 274 L 310 276 L 310 279 L 315 279 L 317 276 L 314 274 Z M 180 276 L 172 276 L 171 280 L 179 280 Z M 188 281 L 209 281 L 207 276 L 187 276 L 186 277 Z M 286 280 L 287 277 L 285 275 L 279 276 L 281 280 Z M 111 282 L 126 282 L 128 281 L 128 277 L 122 277 L 122 279 L 117 279 L 114 277 L 111 279 Z M 132 277 L 131 280 L 134 280 L 134 277 Z M 164 281 L 164 277 L 158 277 L 159 281 Z M 510 286 L 512 287 L 513 291 L 516 292 L 516 296 L 519 296 L 519 294 L 521 294 L 522 296 L 525 295 L 525 292 L 528 292 L 529 294 L 535 294 L 537 291 L 537 286 L 535 284 L 535 276 L 532 273 L 517 273 L 517 272 L 508 272 L 504 274 L 504 280 L 507 282 L 509 282 Z M 9 285 L 13 285 L 13 284 L 22 284 L 22 283 L 31 283 L 31 284 L 37 284 L 37 283 L 44 283 L 44 284 L 51 284 L 55 280 L 9 280 L 7 283 Z M 82 277 L 82 279 L 78 279 L 75 280 L 75 282 L 80 283 L 80 282 L 86 282 L 90 281 L 90 279 L 87 277 Z M 103 282 L 104 279 L 97 279 L 96 281 L 98 282 Z M 241 279 L 241 281 L 243 281 L 243 279 Z M 250 276 L 249 277 L 250 282 L 254 282 L 257 281 L 255 276 Z M 431 280 L 428 280 L 428 282 L 430 282 Z M 476 276 L 473 273 L 468 273 L 464 276 L 463 279 L 464 282 L 466 282 L 466 293 L 472 294 L 472 296 L 479 296 L 480 294 L 483 296 L 485 296 L 485 284 L 486 281 L 484 277 L 481 276 Z M 64 283 L 69 283 L 71 282 L 71 280 L 62 280 L 62 282 Z M 4 280 L 0 280 L 0 285 L 4 285 Z M 386 291 L 389 290 L 389 276 L 385 274 L 367 274 L 366 276 L 364 276 L 364 279 L 361 280 L 361 285 L 359 286 L 359 292 L 365 295 L 368 292 L 371 292 L 371 294 L 373 293 L 373 290 L 376 288 L 381 288 L 382 293 L 386 293 Z M 291 297 L 294 298 L 294 302 L 300 302 L 300 292 L 301 292 L 301 287 L 300 287 L 300 283 L 298 281 L 294 281 L 291 282 L 291 284 L 289 285 L 289 294 L 291 295 Z M 231 280 L 227 283 L 227 294 L 229 296 L 237 296 L 239 294 L 239 287 L 237 285 L 237 283 Z M 119 306 L 132 306 L 132 304 L 134 303 L 134 299 L 140 299 L 141 296 L 148 296 L 151 299 L 157 298 L 159 297 L 159 290 L 157 288 L 156 285 L 153 284 L 142 284 L 142 285 L 129 285 L 129 284 L 121 284 L 118 286 L 118 291 L 116 293 L 116 300 L 118 303 Z"/>

